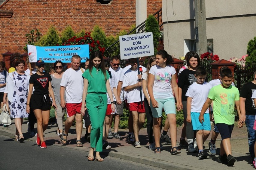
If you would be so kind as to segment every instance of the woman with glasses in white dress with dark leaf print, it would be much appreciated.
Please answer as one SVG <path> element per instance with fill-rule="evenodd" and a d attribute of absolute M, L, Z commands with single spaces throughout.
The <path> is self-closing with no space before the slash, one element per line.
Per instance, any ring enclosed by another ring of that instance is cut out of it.
<path fill-rule="evenodd" d="M 15 63 L 16 71 L 9 74 L 6 78 L 6 87 L 4 91 L 3 103 L 6 103 L 6 96 L 8 96 L 8 103 L 11 111 L 11 117 L 14 118 L 16 132 L 14 135 L 15 141 L 24 141 L 24 136 L 21 131 L 23 118 L 27 118 L 26 112 L 27 92 L 29 86 L 29 78 L 25 74 L 25 61 L 18 60 Z"/>

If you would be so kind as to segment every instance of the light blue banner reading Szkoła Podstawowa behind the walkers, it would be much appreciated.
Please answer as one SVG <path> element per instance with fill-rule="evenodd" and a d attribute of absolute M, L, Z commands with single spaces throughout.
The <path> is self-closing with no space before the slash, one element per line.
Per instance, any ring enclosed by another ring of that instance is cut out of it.
<path fill-rule="evenodd" d="M 51 46 L 39 47 L 28 45 L 29 62 L 35 63 L 37 60 L 43 60 L 45 63 L 54 63 L 62 61 L 70 63 L 71 57 L 75 54 L 81 57 L 81 63 L 85 63 L 89 58 L 89 45 L 66 45 L 66 46 Z"/>

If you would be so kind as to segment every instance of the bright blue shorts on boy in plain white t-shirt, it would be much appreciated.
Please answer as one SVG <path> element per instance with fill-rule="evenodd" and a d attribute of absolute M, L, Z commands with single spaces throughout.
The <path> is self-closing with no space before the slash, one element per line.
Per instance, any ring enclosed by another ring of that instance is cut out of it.
<path fill-rule="evenodd" d="M 191 122 L 193 126 L 193 130 L 211 130 L 211 122 L 209 113 L 205 113 L 203 115 L 204 121 L 203 123 L 199 122 L 199 112 L 191 112 Z"/>

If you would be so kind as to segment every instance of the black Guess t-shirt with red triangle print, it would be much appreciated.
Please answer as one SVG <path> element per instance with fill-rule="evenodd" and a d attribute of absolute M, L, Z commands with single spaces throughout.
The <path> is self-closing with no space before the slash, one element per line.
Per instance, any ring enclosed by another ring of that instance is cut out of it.
<path fill-rule="evenodd" d="M 50 74 L 38 75 L 37 73 L 31 75 L 29 83 L 34 84 L 34 94 L 47 95 L 49 94 L 49 81 L 52 81 Z"/>

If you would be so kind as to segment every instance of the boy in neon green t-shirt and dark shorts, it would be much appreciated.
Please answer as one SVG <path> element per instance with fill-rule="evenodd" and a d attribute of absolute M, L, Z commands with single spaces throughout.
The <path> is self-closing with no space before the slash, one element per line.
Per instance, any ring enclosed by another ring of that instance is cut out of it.
<path fill-rule="evenodd" d="M 221 72 L 222 83 L 212 87 L 209 91 L 208 98 L 200 112 L 199 121 L 204 121 L 204 113 L 213 102 L 213 113 L 215 125 L 221 134 L 221 149 L 218 161 L 228 166 L 233 166 L 236 159 L 231 153 L 230 137 L 235 123 L 235 105 L 237 108 L 239 122 L 238 128 L 242 128 L 245 122 L 245 115 L 241 115 L 239 110 L 239 91 L 235 86 L 231 86 L 233 74 L 229 68 Z"/>

